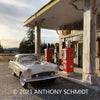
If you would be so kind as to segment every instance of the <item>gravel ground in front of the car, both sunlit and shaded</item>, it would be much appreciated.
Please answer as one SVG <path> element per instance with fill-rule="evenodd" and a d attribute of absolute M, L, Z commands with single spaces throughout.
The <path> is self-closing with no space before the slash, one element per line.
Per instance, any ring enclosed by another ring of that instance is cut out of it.
<path fill-rule="evenodd" d="M 74 92 L 71 92 L 72 90 Z M 78 92 L 75 92 L 75 90 Z M 100 100 L 100 93 L 64 78 L 58 78 L 54 83 L 50 81 L 31 83 L 25 89 L 20 86 L 19 79 L 11 75 L 8 63 L 0 63 L 0 100 L 56 99 Z"/>

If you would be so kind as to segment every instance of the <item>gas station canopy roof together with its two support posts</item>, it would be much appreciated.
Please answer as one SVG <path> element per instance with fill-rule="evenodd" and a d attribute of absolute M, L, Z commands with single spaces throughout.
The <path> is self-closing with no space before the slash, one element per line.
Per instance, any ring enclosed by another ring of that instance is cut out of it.
<path fill-rule="evenodd" d="M 39 57 L 41 55 L 41 28 L 59 30 L 64 29 L 62 28 L 64 26 L 81 26 L 79 24 L 81 24 L 81 22 L 84 20 L 84 22 L 82 22 L 82 25 L 84 24 L 82 82 L 88 84 L 97 84 L 98 77 L 95 72 L 95 48 L 97 26 L 96 17 L 97 22 L 100 22 L 99 6 L 100 0 L 51 0 L 37 13 L 24 22 L 24 26 L 34 28 L 35 54 Z M 98 16 L 96 16 L 96 14 L 98 14 Z M 59 40 L 61 40 L 61 37 Z M 63 48 L 61 47 L 61 50 L 62 49 Z"/>

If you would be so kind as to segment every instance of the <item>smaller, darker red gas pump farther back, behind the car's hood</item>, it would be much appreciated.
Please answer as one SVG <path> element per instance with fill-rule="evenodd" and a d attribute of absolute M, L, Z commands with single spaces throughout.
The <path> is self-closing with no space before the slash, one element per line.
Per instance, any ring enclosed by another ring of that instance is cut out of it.
<path fill-rule="evenodd" d="M 52 55 L 53 55 L 52 49 L 50 49 L 49 46 L 47 45 L 47 48 L 44 51 L 45 51 L 45 61 L 52 63 Z"/>

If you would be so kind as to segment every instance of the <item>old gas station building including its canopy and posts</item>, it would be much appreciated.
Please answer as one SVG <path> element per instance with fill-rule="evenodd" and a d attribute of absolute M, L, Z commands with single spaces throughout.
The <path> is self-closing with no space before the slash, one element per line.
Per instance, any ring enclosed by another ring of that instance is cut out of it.
<path fill-rule="evenodd" d="M 40 56 L 41 28 L 59 34 L 59 58 L 67 40 L 74 48 L 74 66 L 82 67 L 82 80 L 97 84 L 100 62 L 99 0 L 51 0 L 24 22 L 35 30 L 35 54 Z"/>

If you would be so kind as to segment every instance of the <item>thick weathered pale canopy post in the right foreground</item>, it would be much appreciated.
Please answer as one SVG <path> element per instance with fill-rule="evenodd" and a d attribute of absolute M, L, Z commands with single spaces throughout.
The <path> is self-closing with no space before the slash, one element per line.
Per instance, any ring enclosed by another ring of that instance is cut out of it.
<path fill-rule="evenodd" d="M 97 0 L 84 0 L 83 82 L 97 84 L 96 65 L 96 15 Z"/>

